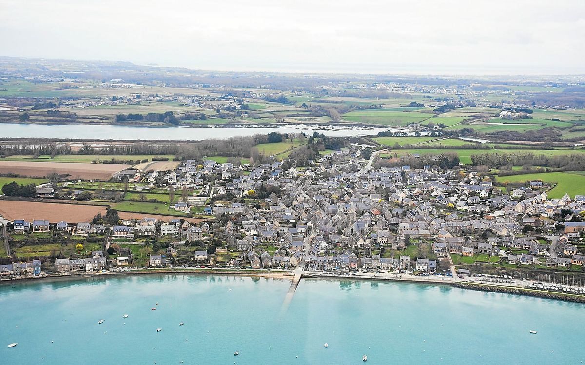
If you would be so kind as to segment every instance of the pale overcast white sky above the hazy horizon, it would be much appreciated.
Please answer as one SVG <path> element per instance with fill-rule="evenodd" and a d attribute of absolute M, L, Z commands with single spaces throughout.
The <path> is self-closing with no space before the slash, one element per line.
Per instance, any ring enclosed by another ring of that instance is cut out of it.
<path fill-rule="evenodd" d="M 0 55 L 231 71 L 585 74 L 585 0 L 0 0 Z"/>

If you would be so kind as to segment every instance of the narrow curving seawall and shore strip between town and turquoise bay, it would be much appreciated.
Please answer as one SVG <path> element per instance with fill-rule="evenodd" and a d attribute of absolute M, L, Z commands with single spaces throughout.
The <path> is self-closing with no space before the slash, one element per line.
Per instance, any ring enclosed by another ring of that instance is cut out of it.
<path fill-rule="evenodd" d="M 289 271 L 266 271 L 263 270 L 221 270 L 221 269 L 207 269 L 207 270 L 198 270 L 198 269 L 138 269 L 136 271 L 128 271 L 128 272 L 105 272 L 105 273 L 95 273 L 95 274 L 74 274 L 74 275 L 63 275 L 63 276 L 44 276 L 44 277 L 29 277 L 23 279 L 13 279 L 13 280 L 2 280 L 0 281 L 0 287 L 11 284 L 14 285 L 15 283 L 25 284 L 25 283 L 51 283 L 51 282 L 59 282 L 59 281 L 78 281 L 78 280 L 87 280 L 93 278 L 101 278 L 107 279 L 108 277 L 116 277 L 116 276 L 135 276 L 135 275 L 149 275 L 149 274 L 184 274 L 184 275 L 197 275 L 197 274 L 212 274 L 212 275 L 221 275 L 221 276 L 249 276 L 249 277 L 264 277 L 266 279 L 279 279 L 279 280 L 292 280 L 294 279 L 294 274 L 291 274 Z M 363 275 L 336 275 L 336 274 L 311 274 L 311 273 L 304 273 L 301 276 L 301 279 L 345 279 L 345 280 L 367 280 L 367 281 L 394 281 L 394 282 L 402 282 L 407 284 L 431 284 L 431 285 L 447 285 L 456 288 L 468 289 L 468 290 L 477 290 L 477 291 L 488 291 L 491 293 L 501 293 L 501 294 L 514 294 L 518 296 L 529 296 L 529 297 L 538 297 L 543 299 L 550 299 L 550 300 L 561 300 L 561 301 L 569 301 L 573 303 L 581 303 L 585 304 L 585 296 L 576 296 L 573 294 L 563 294 L 563 293 L 556 293 L 553 291 L 541 291 L 541 290 L 533 290 L 533 289 L 526 289 L 521 287 L 504 287 L 504 286 L 497 286 L 497 285 L 490 285 L 490 284 L 480 284 L 480 283 L 463 283 L 461 281 L 453 281 L 453 280 L 428 280 L 426 279 L 418 279 L 415 277 L 380 277 L 380 276 L 363 276 Z M 438 278 L 437 278 L 438 279 Z"/>

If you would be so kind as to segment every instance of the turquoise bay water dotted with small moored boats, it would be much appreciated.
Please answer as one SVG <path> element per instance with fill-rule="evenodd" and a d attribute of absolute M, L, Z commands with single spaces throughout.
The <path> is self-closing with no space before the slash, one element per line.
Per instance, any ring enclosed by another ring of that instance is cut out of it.
<path fill-rule="evenodd" d="M 367 364 L 585 360 L 582 304 L 305 279 L 287 306 L 289 284 L 149 275 L 0 286 L 0 364 L 360 364 L 363 354 Z"/>

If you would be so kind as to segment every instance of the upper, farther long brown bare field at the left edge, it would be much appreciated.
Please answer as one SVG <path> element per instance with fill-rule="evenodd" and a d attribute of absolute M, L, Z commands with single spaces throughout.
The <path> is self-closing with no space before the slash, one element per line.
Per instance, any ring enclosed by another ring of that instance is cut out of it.
<path fill-rule="evenodd" d="M 80 162 L 29 162 L 0 161 L 0 173 L 43 178 L 49 173 L 68 174 L 72 178 L 108 180 L 113 173 L 130 168 L 130 165 L 84 164 Z"/>

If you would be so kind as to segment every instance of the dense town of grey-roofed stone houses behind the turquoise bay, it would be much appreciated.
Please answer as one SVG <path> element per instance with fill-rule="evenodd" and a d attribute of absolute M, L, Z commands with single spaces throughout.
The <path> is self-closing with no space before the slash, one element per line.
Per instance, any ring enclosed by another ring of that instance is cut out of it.
<path fill-rule="evenodd" d="M 125 169 L 109 182 L 36 186 L 44 201 L 84 199 L 108 184 L 142 194 L 176 191 L 181 196 L 168 209 L 188 217 L 123 219 L 108 208 L 92 221 L 2 219 L 6 252 L 54 242 L 71 249 L 68 255 L 12 260 L 0 266 L 0 275 L 300 269 L 314 276 L 521 286 L 556 279 L 583 286 L 584 195 L 550 199 L 549 186 L 536 180 L 506 194 L 474 168 L 379 167 L 373 162 L 383 150 L 372 154 L 370 148 L 351 145 L 302 168 L 287 159 L 188 159 L 167 171 Z"/>

